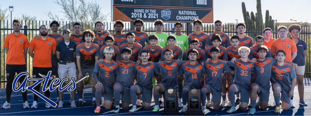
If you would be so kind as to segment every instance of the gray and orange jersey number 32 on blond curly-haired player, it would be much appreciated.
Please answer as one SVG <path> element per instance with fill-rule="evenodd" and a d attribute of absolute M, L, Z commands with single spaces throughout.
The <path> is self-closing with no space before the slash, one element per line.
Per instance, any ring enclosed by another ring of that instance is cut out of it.
<path fill-rule="evenodd" d="M 233 82 L 239 87 L 244 89 L 251 88 L 251 72 L 254 71 L 254 63 L 248 59 L 247 62 L 242 59 L 237 59 L 236 63 L 233 64 L 231 61 L 226 61 L 229 67 L 234 67 L 234 80 Z"/>

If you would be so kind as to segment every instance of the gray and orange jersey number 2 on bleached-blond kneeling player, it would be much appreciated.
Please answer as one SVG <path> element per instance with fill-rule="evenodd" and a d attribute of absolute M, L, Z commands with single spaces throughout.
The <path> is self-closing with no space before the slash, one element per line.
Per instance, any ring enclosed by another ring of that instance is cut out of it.
<path fill-rule="evenodd" d="M 118 74 L 118 63 L 99 61 L 95 64 L 94 72 L 98 72 L 98 80 L 109 88 L 114 87 L 114 75 Z"/>

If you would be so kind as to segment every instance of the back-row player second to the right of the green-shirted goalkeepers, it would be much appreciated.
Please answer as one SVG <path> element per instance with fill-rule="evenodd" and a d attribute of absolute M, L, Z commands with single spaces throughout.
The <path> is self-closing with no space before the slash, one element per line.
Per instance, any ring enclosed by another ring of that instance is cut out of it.
<path fill-rule="evenodd" d="M 222 22 L 220 20 L 216 20 L 214 24 L 215 24 L 215 26 L 214 26 L 215 32 L 213 32 L 207 36 L 206 45 L 211 46 L 212 36 L 217 34 L 221 38 L 221 44 L 220 45 L 225 47 L 225 48 L 228 48 L 231 45 L 230 40 L 229 40 L 229 35 L 225 34 L 224 32 L 221 32 Z"/>

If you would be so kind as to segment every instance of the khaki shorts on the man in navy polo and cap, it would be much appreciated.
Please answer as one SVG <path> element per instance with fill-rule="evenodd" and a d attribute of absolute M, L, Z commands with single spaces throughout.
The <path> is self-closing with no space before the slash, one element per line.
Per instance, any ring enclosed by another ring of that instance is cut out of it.
<path fill-rule="evenodd" d="M 67 64 L 59 64 L 58 63 L 58 77 L 60 80 L 63 80 L 64 78 L 69 77 L 69 81 L 71 78 L 74 78 L 77 80 L 77 70 L 76 70 L 76 64 L 75 63 L 67 63 Z"/>

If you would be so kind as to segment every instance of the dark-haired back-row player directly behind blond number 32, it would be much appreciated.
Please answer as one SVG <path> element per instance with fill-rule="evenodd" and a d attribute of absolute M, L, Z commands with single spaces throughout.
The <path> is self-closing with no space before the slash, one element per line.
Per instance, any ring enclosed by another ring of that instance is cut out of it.
<path fill-rule="evenodd" d="M 245 31 L 245 24 L 244 23 L 239 23 L 236 25 L 236 30 L 238 31 L 238 36 L 239 36 L 239 41 L 240 41 L 240 46 L 246 46 L 248 48 L 253 46 L 253 39 L 251 37 L 248 37 L 244 34 Z"/>

